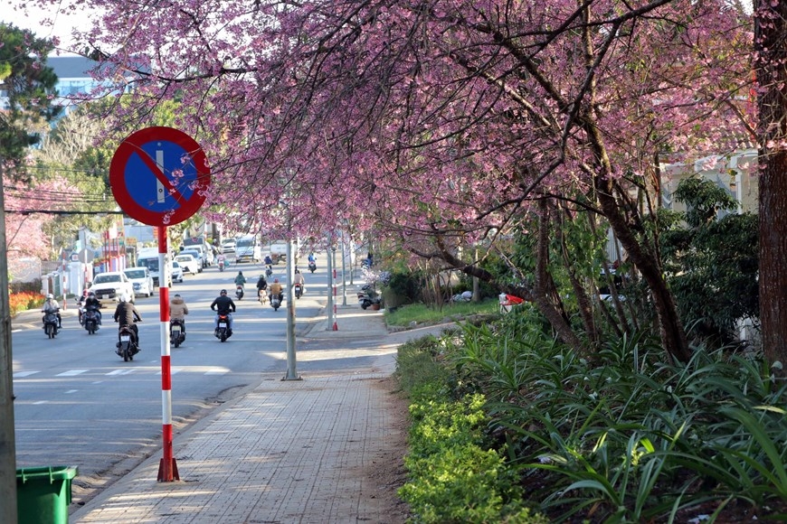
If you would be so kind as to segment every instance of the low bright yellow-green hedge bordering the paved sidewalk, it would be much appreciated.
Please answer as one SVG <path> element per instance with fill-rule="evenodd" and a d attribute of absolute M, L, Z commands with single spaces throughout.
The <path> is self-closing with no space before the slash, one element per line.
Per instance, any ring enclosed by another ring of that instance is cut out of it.
<path fill-rule="evenodd" d="M 523 506 L 517 475 L 505 466 L 504 457 L 485 444 L 483 396 L 450 398 L 447 371 L 436 361 L 439 347 L 433 337 L 409 342 L 397 359 L 402 379 L 414 372 L 407 388 L 412 400 L 405 457 L 410 481 L 399 491 L 410 504 L 412 521 L 545 523 Z"/>

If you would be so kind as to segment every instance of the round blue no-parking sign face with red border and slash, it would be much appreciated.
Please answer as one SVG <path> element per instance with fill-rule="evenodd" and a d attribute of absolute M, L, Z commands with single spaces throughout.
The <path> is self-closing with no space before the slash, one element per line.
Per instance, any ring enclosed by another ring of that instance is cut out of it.
<path fill-rule="evenodd" d="M 109 164 L 109 186 L 120 209 L 149 226 L 171 226 L 194 215 L 210 184 L 202 147 L 172 127 L 132 133 Z"/>

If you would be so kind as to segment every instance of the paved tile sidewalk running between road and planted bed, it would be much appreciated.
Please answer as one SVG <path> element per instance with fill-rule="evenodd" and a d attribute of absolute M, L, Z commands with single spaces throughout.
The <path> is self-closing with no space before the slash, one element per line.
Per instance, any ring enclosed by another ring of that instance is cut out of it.
<path fill-rule="evenodd" d="M 403 522 L 383 496 L 395 486 L 375 485 L 367 474 L 401 440 L 386 410 L 391 392 L 379 383 L 395 370 L 400 344 L 441 327 L 388 333 L 382 312 L 357 304 L 338 306 L 335 320 L 336 331 L 318 317 L 298 343 L 327 341 L 342 357 L 372 355 L 368 370 L 263 376 L 247 394 L 175 434 L 179 481 L 156 482 L 159 451 L 82 508 L 71 508 L 69 521 Z M 359 348 L 358 340 L 373 343 Z"/>

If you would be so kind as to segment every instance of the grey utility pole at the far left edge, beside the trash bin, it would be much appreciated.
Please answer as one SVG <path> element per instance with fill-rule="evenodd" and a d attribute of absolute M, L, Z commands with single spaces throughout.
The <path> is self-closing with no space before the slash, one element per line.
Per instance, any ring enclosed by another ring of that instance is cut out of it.
<path fill-rule="evenodd" d="M 0 157 L 0 181 L 3 175 Z M 5 194 L 0 183 L 0 522 L 16 522 L 16 441 L 14 440 L 14 359 L 8 304 L 8 251 Z"/>

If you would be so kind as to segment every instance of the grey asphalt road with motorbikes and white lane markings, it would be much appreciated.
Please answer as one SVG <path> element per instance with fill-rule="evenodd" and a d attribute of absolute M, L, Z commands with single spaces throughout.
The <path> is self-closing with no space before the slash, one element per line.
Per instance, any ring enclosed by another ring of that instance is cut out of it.
<path fill-rule="evenodd" d="M 315 299 L 327 295 L 327 274 L 307 275 L 307 295 L 297 302 L 299 323 L 316 316 Z M 227 342 L 213 336 L 210 304 L 241 269 L 248 279 L 247 295 L 236 301 L 234 334 Z M 282 282 L 284 265 L 274 276 Z M 172 411 L 177 432 L 244 388 L 264 371 L 286 366 L 286 308 L 273 311 L 254 300 L 259 265 L 231 265 L 223 272 L 209 267 L 185 276 L 171 294 L 179 293 L 189 307 L 187 337 L 171 350 Z M 75 309 L 69 304 L 71 309 Z M 161 445 L 162 393 L 158 295 L 137 298 L 143 318 L 138 324 L 142 350 L 124 362 L 115 354 L 117 324 L 105 309 L 103 328 L 90 335 L 76 316 L 64 315 L 63 330 L 49 340 L 38 325 L 15 329 L 14 425 L 16 467 L 77 465 L 75 498 L 111 482 L 153 454 Z"/>

